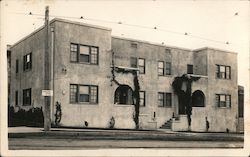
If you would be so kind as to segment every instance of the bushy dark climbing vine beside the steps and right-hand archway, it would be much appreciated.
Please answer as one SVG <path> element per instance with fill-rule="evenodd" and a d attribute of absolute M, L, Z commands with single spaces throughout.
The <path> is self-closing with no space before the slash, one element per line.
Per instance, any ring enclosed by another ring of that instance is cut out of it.
<path fill-rule="evenodd" d="M 186 74 L 181 77 L 177 76 L 174 78 L 172 87 L 175 94 L 178 96 L 178 102 L 180 105 L 185 106 L 185 113 L 188 118 L 188 126 L 191 126 L 191 115 L 192 115 L 192 83 L 199 80 L 200 77 L 192 77 Z M 186 90 L 182 89 L 183 84 L 186 83 Z"/>

